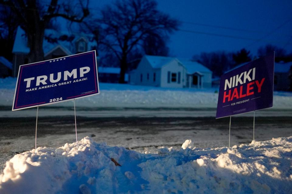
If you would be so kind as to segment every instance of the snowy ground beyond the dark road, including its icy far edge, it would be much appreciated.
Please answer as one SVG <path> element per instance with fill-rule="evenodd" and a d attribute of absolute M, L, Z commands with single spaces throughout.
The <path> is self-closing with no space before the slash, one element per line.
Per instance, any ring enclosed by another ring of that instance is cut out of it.
<path fill-rule="evenodd" d="M 0 117 L 35 117 L 36 109 L 11 111 L 16 78 L 0 79 Z M 215 117 L 218 88 L 172 89 L 100 83 L 100 94 L 77 99 L 77 115 L 85 117 Z M 292 116 L 292 92 L 274 92 L 272 109 L 257 116 Z M 39 116 L 71 115 L 73 102 L 40 107 Z M 240 115 L 240 116 L 246 116 Z"/>

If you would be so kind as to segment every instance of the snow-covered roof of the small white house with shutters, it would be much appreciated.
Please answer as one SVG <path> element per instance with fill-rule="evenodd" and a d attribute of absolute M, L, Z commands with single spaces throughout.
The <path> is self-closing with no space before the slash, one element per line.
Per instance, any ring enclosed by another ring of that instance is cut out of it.
<path fill-rule="evenodd" d="M 212 71 L 204 65 L 190 59 L 152 55 L 145 55 L 145 57 L 153 68 L 162 68 L 162 66 L 166 65 L 167 63 L 173 60 L 177 60 L 187 69 L 189 74 L 193 74 L 195 72 L 212 73 Z"/>

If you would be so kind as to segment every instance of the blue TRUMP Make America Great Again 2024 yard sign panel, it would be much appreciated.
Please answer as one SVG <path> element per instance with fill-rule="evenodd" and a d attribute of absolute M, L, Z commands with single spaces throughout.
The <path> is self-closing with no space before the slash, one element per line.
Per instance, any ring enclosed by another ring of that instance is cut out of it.
<path fill-rule="evenodd" d="M 20 65 L 12 111 L 98 93 L 95 51 Z"/>

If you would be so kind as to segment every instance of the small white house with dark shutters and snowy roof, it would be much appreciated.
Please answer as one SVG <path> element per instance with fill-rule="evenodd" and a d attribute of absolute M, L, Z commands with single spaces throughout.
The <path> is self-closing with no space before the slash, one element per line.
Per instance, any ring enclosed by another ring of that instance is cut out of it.
<path fill-rule="evenodd" d="M 157 87 L 211 87 L 212 72 L 189 59 L 144 55 L 137 69 L 129 72 L 129 83 Z"/>

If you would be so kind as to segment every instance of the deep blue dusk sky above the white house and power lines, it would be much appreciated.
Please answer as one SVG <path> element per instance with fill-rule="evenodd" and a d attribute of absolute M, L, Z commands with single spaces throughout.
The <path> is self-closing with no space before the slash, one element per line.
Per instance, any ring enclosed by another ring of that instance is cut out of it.
<path fill-rule="evenodd" d="M 112 2 L 92 2 L 92 11 Z M 167 44 L 171 56 L 192 58 L 201 52 L 236 52 L 242 48 L 255 56 L 266 44 L 292 52 L 292 1 L 157 2 L 159 10 L 182 22 Z"/>

